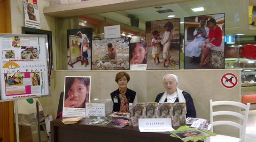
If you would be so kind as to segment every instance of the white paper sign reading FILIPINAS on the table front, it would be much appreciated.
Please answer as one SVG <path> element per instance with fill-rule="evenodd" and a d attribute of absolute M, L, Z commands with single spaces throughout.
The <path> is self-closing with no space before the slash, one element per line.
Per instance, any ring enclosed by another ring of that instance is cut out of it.
<path fill-rule="evenodd" d="M 168 132 L 174 131 L 171 119 L 139 119 L 140 132 Z"/>

